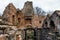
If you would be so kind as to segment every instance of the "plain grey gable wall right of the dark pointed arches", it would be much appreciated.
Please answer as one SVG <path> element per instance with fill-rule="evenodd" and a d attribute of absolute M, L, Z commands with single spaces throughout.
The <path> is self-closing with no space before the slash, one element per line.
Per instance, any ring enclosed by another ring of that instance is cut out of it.
<path fill-rule="evenodd" d="M 56 30 L 60 32 L 60 11 L 56 10 L 52 15 L 51 15 L 51 20 L 54 21 L 54 24 L 56 26 Z"/>

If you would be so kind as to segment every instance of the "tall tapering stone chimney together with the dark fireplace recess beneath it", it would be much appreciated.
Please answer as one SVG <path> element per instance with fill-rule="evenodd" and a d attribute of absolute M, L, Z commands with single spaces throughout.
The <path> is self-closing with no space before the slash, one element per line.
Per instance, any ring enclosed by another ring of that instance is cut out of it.
<path fill-rule="evenodd" d="M 25 25 L 32 26 L 34 11 L 33 11 L 33 4 L 31 1 L 25 2 L 24 7 L 22 9 L 22 13 L 24 13 Z"/>

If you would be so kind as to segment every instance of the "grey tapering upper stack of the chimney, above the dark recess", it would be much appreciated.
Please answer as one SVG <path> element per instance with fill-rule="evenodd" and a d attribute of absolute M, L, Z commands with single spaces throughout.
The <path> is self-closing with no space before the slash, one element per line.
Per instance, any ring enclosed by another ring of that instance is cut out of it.
<path fill-rule="evenodd" d="M 25 13 L 25 16 L 32 16 L 34 13 L 32 2 L 25 2 L 22 12 Z"/>

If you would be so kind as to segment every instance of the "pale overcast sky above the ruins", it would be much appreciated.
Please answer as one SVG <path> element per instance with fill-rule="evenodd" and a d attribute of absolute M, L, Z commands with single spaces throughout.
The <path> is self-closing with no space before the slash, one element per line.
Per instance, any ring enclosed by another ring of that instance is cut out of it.
<path fill-rule="evenodd" d="M 34 7 L 38 6 L 45 11 L 60 10 L 60 0 L 0 0 L 0 13 L 3 13 L 9 3 L 13 3 L 16 8 L 22 9 L 26 1 L 32 1 Z"/>

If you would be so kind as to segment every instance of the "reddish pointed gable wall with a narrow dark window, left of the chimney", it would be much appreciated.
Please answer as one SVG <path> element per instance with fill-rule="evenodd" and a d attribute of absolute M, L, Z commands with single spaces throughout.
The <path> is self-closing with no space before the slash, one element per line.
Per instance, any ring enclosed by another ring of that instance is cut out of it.
<path fill-rule="evenodd" d="M 16 8 L 12 3 L 9 3 L 3 12 L 3 20 L 5 23 L 13 25 L 16 23 Z"/>

